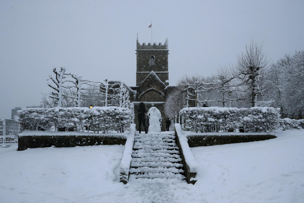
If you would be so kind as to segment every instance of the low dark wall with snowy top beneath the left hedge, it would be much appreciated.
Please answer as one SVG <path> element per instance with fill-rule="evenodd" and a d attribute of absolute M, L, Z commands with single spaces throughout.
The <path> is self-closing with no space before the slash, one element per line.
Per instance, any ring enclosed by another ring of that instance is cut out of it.
<path fill-rule="evenodd" d="M 18 151 L 27 148 L 125 145 L 126 133 L 95 134 L 85 132 L 26 131 L 19 133 Z"/>

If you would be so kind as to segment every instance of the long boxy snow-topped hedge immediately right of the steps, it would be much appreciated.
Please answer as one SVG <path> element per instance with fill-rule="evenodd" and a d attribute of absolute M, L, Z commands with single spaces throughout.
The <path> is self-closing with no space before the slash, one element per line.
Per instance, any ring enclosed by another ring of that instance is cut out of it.
<path fill-rule="evenodd" d="M 279 109 L 273 107 L 189 107 L 180 111 L 182 130 L 192 132 L 269 132 L 279 126 Z"/>

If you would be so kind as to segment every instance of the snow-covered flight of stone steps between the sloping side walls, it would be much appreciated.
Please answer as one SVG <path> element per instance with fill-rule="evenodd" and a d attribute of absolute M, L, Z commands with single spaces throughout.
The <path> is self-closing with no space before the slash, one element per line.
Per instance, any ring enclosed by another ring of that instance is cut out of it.
<path fill-rule="evenodd" d="M 130 177 L 184 180 L 181 157 L 171 134 L 135 135 Z"/>

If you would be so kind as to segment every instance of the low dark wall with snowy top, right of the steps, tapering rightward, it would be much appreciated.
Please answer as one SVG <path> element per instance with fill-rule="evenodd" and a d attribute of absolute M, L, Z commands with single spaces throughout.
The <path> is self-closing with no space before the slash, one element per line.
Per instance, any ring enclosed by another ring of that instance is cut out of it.
<path fill-rule="evenodd" d="M 185 135 L 189 147 L 224 145 L 240 142 L 254 142 L 276 138 L 274 133 L 191 133 Z"/>

